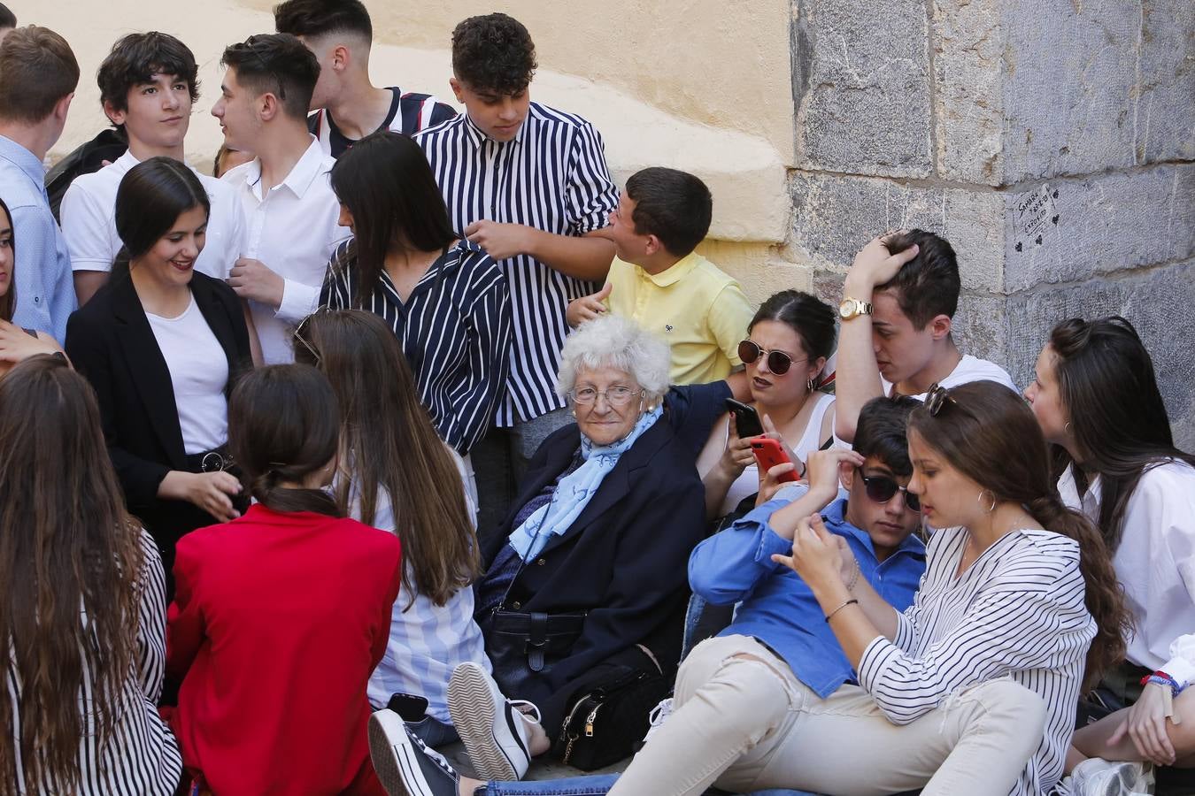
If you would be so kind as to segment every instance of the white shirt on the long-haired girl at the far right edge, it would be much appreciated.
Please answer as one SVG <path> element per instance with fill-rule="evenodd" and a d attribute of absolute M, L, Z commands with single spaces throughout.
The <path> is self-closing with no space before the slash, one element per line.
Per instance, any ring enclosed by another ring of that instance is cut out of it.
<path fill-rule="evenodd" d="M 1098 522 L 1098 475 L 1080 498 L 1067 468 L 1058 490 L 1067 506 Z M 1166 662 L 1177 656 L 1171 642 L 1195 630 L 1195 468 L 1169 461 L 1146 470 L 1128 499 L 1123 529 L 1113 567 L 1136 621 L 1127 658 L 1169 672 Z"/>

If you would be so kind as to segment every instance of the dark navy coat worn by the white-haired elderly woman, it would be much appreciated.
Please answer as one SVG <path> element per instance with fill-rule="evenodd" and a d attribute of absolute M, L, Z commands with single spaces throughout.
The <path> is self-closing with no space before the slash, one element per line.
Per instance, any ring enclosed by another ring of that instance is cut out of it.
<path fill-rule="evenodd" d="M 514 511 L 482 538 L 486 567 L 509 539 L 517 511 L 568 468 L 580 445 L 575 424 L 544 440 Z M 572 653 L 551 667 L 541 687 L 508 695 L 535 702 L 550 735 L 595 666 L 636 656 L 650 666 L 635 653 L 637 643 L 645 643 L 670 674 L 680 655 L 688 556 L 704 529 L 705 490 L 692 446 L 661 418 L 623 453 L 572 527 L 553 536 L 519 573 L 507 607 L 588 611 Z M 496 675 L 501 668 L 495 666 Z"/>

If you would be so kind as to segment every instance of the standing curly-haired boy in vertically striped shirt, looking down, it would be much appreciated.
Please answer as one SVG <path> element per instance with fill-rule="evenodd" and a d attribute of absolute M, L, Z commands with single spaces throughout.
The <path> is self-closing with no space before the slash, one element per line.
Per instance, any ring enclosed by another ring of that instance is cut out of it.
<path fill-rule="evenodd" d="M 448 216 L 502 266 L 513 310 L 510 375 L 496 428 L 472 450 L 478 527 L 502 520 L 539 444 L 571 416 L 556 391 L 565 309 L 606 279 L 614 245 L 596 233 L 618 206 L 601 136 L 531 101 L 535 45 L 507 14 L 453 31 L 449 81 L 465 113 L 415 136 Z"/>

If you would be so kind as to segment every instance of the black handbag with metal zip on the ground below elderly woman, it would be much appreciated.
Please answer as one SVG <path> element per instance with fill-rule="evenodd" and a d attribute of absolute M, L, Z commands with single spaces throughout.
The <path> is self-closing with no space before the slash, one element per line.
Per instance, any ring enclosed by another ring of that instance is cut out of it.
<path fill-rule="evenodd" d="M 564 720 L 552 753 L 565 765 L 593 771 L 631 757 L 648 732 L 651 709 L 672 689 L 656 672 L 613 668 L 590 690 L 582 690 Z"/>

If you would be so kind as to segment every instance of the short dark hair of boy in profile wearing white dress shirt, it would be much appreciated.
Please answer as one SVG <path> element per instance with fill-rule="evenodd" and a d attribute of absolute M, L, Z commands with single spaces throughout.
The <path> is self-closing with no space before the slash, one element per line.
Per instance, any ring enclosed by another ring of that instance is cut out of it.
<path fill-rule="evenodd" d="M 290 33 L 259 33 L 241 44 L 229 44 L 220 63 L 237 70 L 240 85 L 258 94 L 270 92 L 277 97 L 290 118 L 307 119 L 319 80 L 319 61 Z"/>

